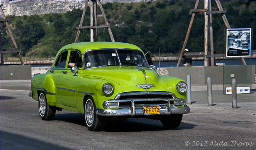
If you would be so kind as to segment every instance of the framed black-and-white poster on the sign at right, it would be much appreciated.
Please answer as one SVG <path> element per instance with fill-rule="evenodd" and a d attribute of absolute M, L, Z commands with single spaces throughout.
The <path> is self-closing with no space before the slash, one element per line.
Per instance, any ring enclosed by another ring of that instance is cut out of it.
<path fill-rule="evenodd" d="M 227 29 L 226 57 L 251 56 L 251 28 Z"/>

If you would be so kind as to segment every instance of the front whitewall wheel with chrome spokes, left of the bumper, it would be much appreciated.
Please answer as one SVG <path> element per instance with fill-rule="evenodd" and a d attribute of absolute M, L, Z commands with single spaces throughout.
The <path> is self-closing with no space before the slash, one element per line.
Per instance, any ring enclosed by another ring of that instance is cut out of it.
<path fill-rule="evenodd" d="M 96 106 L 92 97 L 86 99 L 84 107 L 85 122 L 89 130 L 99 131 L 102 130 L 106 123 L 106 117 L 96 114 Z"/>

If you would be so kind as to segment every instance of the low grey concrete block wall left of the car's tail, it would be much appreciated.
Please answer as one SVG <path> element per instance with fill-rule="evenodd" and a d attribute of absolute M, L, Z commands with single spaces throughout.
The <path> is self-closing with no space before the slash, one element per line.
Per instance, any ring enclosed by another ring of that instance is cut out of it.
<path fill-rule="evenodd" d="M 0 80 L 28 80 L 31 79 L 31 65 L 0 66 Z"/>

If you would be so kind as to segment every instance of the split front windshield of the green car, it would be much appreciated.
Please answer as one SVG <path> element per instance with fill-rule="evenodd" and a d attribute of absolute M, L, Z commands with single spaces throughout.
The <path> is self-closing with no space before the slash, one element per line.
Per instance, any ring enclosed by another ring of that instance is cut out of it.
<path fill-rule="evenodd" d="M 86 68 L 116 65 L 149 68 L 144 54 L 134 49 L 91 50 L 85 52 L 84 61 Z"/>

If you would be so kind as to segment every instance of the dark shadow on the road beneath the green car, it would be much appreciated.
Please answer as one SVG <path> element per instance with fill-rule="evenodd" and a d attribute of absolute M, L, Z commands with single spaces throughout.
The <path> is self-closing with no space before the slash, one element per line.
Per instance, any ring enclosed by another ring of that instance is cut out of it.
<path fill-rule="evenodd" d="M 61 113 L 56 114 L 53 120 L 65 121 L 77 125 L 86 126 L 84 114 L 80 113 Z M 175 129 L 167 129 L 161 121 L 145 118 L 128 118 L 124 121 L 107 121 L 103 131 L 105 132 L 141 132 L 141 131 L 164 131 L 164 130 L 185 130 L 193 129 L 194 124 L 181 122 Z"/>

